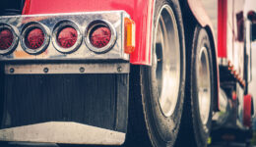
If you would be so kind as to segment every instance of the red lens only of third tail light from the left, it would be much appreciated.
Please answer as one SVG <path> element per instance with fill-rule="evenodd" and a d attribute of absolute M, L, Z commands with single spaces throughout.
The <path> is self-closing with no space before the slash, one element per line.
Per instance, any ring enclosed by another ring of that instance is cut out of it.
<path fill-rule="evenodd" d="M 62 28 L 57 34 L 58 45 L 62 48 L 72 47 L 78 39 L 78 32 L 72 26 Z"/>

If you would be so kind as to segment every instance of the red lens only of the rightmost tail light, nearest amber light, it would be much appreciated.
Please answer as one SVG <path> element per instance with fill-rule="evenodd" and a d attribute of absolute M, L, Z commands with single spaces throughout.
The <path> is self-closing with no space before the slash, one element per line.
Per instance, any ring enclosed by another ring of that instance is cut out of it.
<path fill-rule="evenodd" d="M 106 46 L 111 39 L 111 30 L 105 25 L 96 25 L 89 34 L 90 42 L 96 48 Z"/>

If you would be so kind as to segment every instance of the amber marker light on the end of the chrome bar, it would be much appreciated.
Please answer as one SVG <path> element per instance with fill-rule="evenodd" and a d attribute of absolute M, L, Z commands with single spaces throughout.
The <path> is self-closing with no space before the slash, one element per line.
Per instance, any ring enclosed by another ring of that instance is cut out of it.
<path fill-rule="evenodd" d="M 135 23 L 128 18 L 124 19 L 124 52 L 131 54 L 135 50 Z"/>

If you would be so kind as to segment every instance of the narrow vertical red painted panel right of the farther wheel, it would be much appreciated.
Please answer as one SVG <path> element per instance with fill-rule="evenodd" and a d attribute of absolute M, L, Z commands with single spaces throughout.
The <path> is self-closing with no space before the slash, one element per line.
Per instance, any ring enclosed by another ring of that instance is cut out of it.
<path fill-rule="evenodd" d="M 226 58 L 227 0 L 218 0 L 218 57 Z"/>

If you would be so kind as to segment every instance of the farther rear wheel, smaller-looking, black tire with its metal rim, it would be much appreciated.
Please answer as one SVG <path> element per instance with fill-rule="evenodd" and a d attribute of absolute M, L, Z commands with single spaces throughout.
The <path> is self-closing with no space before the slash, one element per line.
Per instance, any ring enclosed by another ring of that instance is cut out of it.
<path fill-rule="evenodd" d="M 206 147 L 212 125 L 214 98 L 212 50 L 204 28 L 197 25 L 192 36 L 184 112 L 176 146 Z"/>

